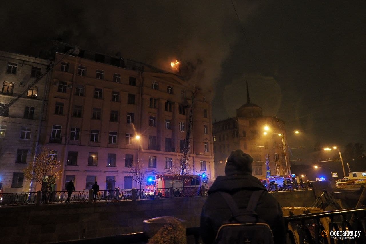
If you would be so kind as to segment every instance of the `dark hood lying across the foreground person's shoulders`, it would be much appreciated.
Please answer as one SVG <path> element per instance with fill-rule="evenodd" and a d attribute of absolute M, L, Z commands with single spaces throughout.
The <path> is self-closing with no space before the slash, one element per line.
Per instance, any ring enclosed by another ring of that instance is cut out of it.
<path fill-rule="evenodd" d="M 236 192 L 242 189 L 258 189 L 267 191 L 258 178 L 251 174 L 240 174 L 218 176 L 210 187 L 208 193 L 210 194 L 217 191 Z"/>

